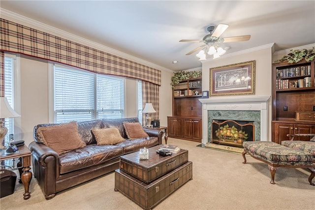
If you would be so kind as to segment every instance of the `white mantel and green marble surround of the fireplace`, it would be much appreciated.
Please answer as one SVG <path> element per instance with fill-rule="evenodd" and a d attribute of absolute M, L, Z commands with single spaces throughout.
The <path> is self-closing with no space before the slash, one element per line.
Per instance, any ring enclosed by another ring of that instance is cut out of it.
<path fill-rule="evenodd" d="M 266 141 L 269 98 L 270 96 L 244 95 L 199 99 L 202 103 L 202 144 L 211 142 L 211 121 L 218 119 L 218 116 L 223 116 L 222 119 L 231 117 L 234 118 L 231 120 L 254 121 L 255 140 Z"/>

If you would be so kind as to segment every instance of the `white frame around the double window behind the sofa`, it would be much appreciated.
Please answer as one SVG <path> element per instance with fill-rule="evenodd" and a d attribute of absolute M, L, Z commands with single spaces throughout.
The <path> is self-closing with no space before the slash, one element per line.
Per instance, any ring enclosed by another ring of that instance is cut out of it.
<path fill-rule="evenodd" d="M 67 66 L 67 65 L 62 65 L 54 62 L 49 62 L 48 64 L 48 121 L 49 123 L 55 123 L 55 113 L 54 113 L 54 65 L 62 67 L 62 68 L 67 68 L 67 69 L 72 69 L 72 70 L 80 70 L 80 71 L 85 71 L 82 69 L 78 69 L 75 67 Z M 89 71 L 90 72 L 90 71 Z M 94 72 L 91 72 L 94 73 Z M 95 75 L 95 91 L 96 91 L 96 74 Z M 107 76 L 112 76 L 112 75 L 107 75 Z M 123 117 L 126 116 L 126 78 L 123 76 L 112 76 L 112 77 L 118 77 L 120 79 L 123 79 L 124 81 L 124 111 L 123 111 Z M 95 103 L 96 103 L 96 92 L 94 94 L 95 97 Z M 95 105 L 96 108 L 96 105 Z M 95 109 L 96 112 L 96 109 Z M 96 117 L 96 113 L 94 115 Z M 96 119 L 96 118 L 95 118 Z"/>

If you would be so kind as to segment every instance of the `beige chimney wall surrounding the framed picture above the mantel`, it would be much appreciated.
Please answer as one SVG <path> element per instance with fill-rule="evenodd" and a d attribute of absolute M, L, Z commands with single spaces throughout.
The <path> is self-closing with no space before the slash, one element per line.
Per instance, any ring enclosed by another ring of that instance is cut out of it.
<path fill-rule="evenodd" d="M 271 119 L 272 119 L 272 47 L 251 51 L 248 53 L 207 60 L 202 64 L 202 90 L 209 90 L 210 87 L 210 68 L 236 64 L 246 61 L 256 61 L 256 82 L 255 95 L 269 95 L 268 101 L 268 138 L 271 140 Z M 228 97 L 228 96 L 226 96 Z"/>

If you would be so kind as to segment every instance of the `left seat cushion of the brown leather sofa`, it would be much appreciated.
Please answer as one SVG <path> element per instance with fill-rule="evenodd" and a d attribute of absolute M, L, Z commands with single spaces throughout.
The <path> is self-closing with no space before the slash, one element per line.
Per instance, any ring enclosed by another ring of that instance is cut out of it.
<path fill-rule="evenodd" d="M 60 174 L 95 166 L 123 154 L 120 146 L 89 144 L 60 155 Z"/>

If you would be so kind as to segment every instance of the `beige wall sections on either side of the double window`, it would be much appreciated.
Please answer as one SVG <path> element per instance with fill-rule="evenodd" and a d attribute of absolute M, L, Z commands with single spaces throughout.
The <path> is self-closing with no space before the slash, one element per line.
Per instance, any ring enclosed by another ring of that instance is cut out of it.
<path fill-rule="evenodd" d="M 33 127 L 48 123 L 48 62 L 30 56 L 21 55 L 21 133 L 26 145 L 33 141 Z M 170 77 L 172 72 L 161 72 L 160 123 L 167 125 L 167 116 L 172 114 L 172 91 Z M 137 116 L 136 79 L 126 79 L 126 117 Z"/>

